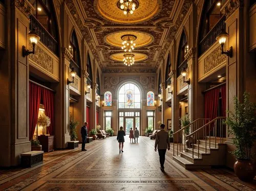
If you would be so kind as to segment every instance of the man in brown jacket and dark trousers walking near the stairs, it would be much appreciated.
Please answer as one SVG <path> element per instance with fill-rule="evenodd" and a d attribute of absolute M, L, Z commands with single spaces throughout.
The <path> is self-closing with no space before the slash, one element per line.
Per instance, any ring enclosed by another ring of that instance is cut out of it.
<path fill-rule="evenodd" d="M 156 142 L 155 142 L 155 151 L 158 149 L 159 159 L 160 159 L 160 170 L 164 171 L 164 161 L 166 149 L 170 150 L 170 139 L 168 132 L 164 130 L 165 125 L 161 124 L 161 130 L 157 132 Z"/>

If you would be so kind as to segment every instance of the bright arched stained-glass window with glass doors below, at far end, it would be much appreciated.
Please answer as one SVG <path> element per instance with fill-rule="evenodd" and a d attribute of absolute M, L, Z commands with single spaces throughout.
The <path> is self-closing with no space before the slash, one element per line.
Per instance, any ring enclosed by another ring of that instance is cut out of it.
<path fill-rule="evenodd" d="M 140 131 L 141 91 L 139 87 L 128 82 L 118 90 L 118 124 L 123 126 L 125 133 L 137 127 Z"/>

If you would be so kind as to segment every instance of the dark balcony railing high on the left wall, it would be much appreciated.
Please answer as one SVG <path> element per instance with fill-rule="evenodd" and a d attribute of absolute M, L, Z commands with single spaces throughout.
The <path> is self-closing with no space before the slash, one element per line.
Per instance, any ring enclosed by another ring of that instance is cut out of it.
<path fill-rule="evenodd" d="M 40 22 L 33 16 L 30 16 L 29 29 L 36 30 L 36 33 L 40 37 L 40 41 L 44 43 L 48 49 L 50 49 L 56 56 L 58 56 L 58 44 L 52 35 L 40 24 Z"/>

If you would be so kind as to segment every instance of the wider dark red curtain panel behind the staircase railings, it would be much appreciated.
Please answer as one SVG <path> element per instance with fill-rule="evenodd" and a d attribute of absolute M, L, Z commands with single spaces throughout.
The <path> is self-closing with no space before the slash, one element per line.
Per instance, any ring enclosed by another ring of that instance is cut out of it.
<path fill-rule="evenodd" d="M 204 95 L 204 117 L 209 118 L 210 121 L 218 115 L 220 88 L 211 89 Z"/>

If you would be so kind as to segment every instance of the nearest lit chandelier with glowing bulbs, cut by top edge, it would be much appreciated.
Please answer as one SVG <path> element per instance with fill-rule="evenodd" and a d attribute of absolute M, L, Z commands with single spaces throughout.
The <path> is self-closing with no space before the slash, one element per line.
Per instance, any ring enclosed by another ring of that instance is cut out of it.
<path fill-rule="evenodd" d="M 129 16 L 129 13 L 133 14 L 139 7 L 139 2 L 137 0 L 120 0 L 117 2 L 117 7 L 123 11 L 123 14 Z"/>

